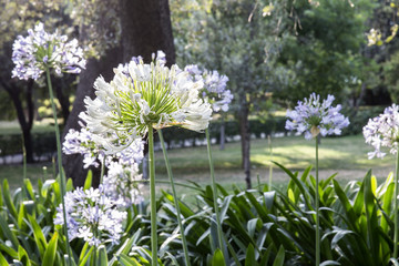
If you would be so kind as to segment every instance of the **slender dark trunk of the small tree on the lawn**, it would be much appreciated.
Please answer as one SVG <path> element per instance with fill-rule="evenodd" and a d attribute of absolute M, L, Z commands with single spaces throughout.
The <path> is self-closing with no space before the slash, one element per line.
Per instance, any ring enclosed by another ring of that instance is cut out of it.
<path fill-rule="evenodd" d="M 252 187 L 250 184 L 250 130 L 249 130 L 249 103 L 246 95 L 241 99 L 241 113 L 238 117 L 239 134 L 242 141 L 242 166 L 245 173 L 245 183 L 247 188 Z"/>

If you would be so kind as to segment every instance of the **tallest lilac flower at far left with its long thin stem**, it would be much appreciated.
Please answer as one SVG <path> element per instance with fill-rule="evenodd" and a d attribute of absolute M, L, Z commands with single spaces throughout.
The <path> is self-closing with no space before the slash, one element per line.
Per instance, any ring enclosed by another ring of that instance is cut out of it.
<path fill-rule="evenodd" d="M 58 168 L 62 194 L 61 202 L 63 209 L 65 209 L 64 195 L 66 182 L 62 171 L 60 129 L 57 120 L 50 72 L 53 70 L 57 75 L 62 75 L 62 73 L 79 74 L 81 69 L 85 68 L 83 50 L 78 45 L 75 39 L 68 42 L 66 35 L 61 35 L 57 31 L 50 34 L 44 31 L 43 23 L 38 23 L 34 29 L 28 30 L 27 37 L 19 35 L 17 38 L 12 45 L 12 61 L 16 64 L 12 70 L 12 78 L 38 80 L 45 73 L 54 117 Z M 63 218 L 66 221 L 65 211 L 63 211 Z M 66 243 L 69 243 L 66 225 L 64 226 L 64 235 Z M 66 245 L 66 252 L 70 257 L 68 259 L 69 264 L 71 264 L 73 256 L 69 245 Z"/>

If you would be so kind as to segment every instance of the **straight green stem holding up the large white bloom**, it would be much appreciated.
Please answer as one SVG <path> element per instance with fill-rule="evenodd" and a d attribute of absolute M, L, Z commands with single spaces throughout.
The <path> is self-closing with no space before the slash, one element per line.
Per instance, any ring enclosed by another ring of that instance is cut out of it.
<path fill-rule="evenodd" d="M 156 198 L 155 198 L 155 161 L 154 161 L 154 129 L 149 124 L 149 175 L 151 201 L 151 252 L 152 266 L 157 265 L 157 235 L 156 235 Z"/>

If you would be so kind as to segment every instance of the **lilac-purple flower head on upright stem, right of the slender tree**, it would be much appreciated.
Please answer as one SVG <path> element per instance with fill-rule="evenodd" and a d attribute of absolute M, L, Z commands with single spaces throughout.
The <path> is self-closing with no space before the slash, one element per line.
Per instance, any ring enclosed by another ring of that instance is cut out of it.
<path fill-rule="evenodd" d="M 349 125 L 349 120 L 339 113 L 340 104 L 331 106 L 334 100 L 332 95 L 328 95 L 320 102 L 320 96 L 313 93 L 304 102 L 298 101 L 295 110 L 287 110 L 288 120 L 285 129 L 297 131 L 299 134 L 305 132 L 306 140 L 311 140 L 318 134 L 340 135 L 341 130 Z"/>

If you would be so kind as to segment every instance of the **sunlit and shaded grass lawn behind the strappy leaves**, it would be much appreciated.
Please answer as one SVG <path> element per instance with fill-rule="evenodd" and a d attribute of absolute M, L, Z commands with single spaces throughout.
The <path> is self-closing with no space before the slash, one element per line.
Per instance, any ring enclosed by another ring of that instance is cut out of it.
<path fill-rule="evenodd" d="M 315 143 L 306 141 L 303 136 L 287 136 L 273 139 L 273 160 L 285 165 L 291 171 L 301 172 L 308 165 L 314 164 Z M 252 180 L 256 185 L 257 178 L 264 183 L 268 181 L 270 152 L 267 140 L 252 141 L 253 163 Z M 367 158 L 367 152 L 371 147 L 365 144 L 361 135 L 345 137 L 323 139 L 319 145 L 320 177 L 327 177 L 338 172 L 337 178 L 342 183 L 349 180 L 359 180 L 365 176 L 369 168 L 374 170 L 377 177 L 385 178 L 393 170 L 393 156 L 386 158 Z M 202 185 L 209 184 L 209 167 L 206 146 L 185 147 L 168 151 L 173 173 L 176 182 L 194 181 Z M 244 173 L 241 170 L 241 143 L 227 143 L 226 149 L 221 151 L 217 145 L 213 146 L 215 173 L 218 183 L 231 187 L 231 184 L 244 186 Z M 167 181 L 166 167 L 162 152 L 155 153 L 156 178 Z M 51 176 L 52 165 L 48 167 L 48 177 Z M 43 178 L 43 164 L 28 166 L 28 177 L 33 180 Z M 0 165 L 0 181 L 8 178 L 11 187 L 22 184 L 22 165 Z M 280 186 L 287 183 L 288 176 L 274 166 L 274 185 Z M 158 185 L 167 188 L 166 184 Z M 185 187 L 178 187 L 181 193 L 188 193 Z"/>

